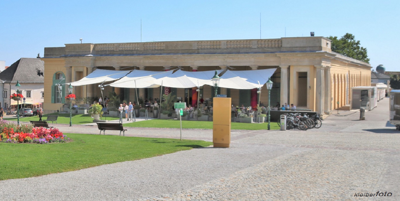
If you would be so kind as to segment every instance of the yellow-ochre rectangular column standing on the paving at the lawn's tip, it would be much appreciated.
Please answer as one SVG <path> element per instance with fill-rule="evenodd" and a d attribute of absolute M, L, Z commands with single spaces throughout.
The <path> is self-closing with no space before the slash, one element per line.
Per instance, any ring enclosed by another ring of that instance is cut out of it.
<path fill-rule="evenodd" d="M 231 98 L 214 97 L 213 99 L 212 142 L 214 147 L 229 147 L 231 102 Z"/>

